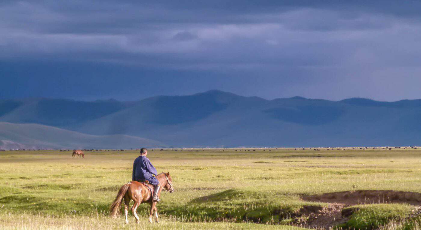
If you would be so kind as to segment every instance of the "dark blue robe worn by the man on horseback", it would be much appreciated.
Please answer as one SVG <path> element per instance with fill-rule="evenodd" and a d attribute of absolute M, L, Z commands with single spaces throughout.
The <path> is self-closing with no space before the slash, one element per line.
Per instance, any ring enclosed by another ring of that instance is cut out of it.
<path fill-rule="evenodd" d="M 157 179 L 153 175 L 157 174 L 157 169 L 155 169 L 146 156 L 139 156 L 134 160 L 132 180 L 148 180 L 149 182 L 155 182 Z"/>

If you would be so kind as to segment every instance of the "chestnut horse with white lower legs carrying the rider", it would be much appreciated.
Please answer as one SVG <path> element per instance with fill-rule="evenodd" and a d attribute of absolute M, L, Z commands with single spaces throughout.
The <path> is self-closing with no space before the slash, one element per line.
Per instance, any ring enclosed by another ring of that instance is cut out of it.
<path fill-rule="evenodd" d="M 158 197 L 160 197 L 161 191 L 163 188 L 170 193 L 174 192 L 173 179 L 171 178 L 169 172 L 160 173 L 156 176 L 156 178 L 161 184 L 160 190 L 158 191 Z M 136 223 L 139 223 L 139 217 L 136 213 L 136 209 L 137 207 L 139 207 L 141 203 L 149 203 L 151 205 L 151 210 L 149 212 L 149 222 L 152 223 L 152 214 L 154 210 L 155 210 L 155 220 L 156 222 L 159 222 L 158 209 L 156 207 L 157 202 L 152 201 L 152 194 L 149 191 L 149 189 L 146 188 L 146 185 L 142 184 L 141 182 L 131 181 L 121 186 L 114 202 L 112 202 L 111 207 L 110 207 L 110 215 L 112 218 L 117 218 L 117 216 L 121 213 L 120 206 L 123 203 L 123 198 L 124 198 L 124 215 L 126 218 L 126 224 L 128 224 L 129 222 L 127 219 L 127 214 L 128 214 L 129 203 L 131 200 L 134 201 L 134 204 L 130 210 L 132 211 L 134 218 L 136 219 Z"/>

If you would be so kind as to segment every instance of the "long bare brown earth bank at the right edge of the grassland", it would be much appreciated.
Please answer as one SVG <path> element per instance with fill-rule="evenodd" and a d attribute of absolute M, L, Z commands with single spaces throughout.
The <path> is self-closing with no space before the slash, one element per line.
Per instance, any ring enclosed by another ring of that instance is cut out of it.
<path fill-rule="evenodd" d="M 321 195 L 301 196 L 304 201 L 338 203 L 346 206 L 356 204 L 406 203 L 421 205 L 421 193 L 394 190 L 355 190 Z"/>

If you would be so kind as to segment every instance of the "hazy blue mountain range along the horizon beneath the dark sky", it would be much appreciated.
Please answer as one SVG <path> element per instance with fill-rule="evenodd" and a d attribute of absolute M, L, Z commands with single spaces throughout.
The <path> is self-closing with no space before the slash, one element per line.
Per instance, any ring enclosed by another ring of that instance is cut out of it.
<path fill-rule="evenodd" d="M 265 100 L 218 90 L 133 102 L 0 100 L 0 148 L 393 146 L 419 145 L 420 136 L 421 100 Z"/>

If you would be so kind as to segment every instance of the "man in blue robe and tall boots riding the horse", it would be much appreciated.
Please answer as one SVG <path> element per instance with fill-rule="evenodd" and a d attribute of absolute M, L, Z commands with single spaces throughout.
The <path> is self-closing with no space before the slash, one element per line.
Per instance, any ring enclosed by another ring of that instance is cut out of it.
<path fill-rule="evenodd" d="M 158 191 L 160 188 L 160 183 L 155 177 L 158 172 L 155 167 L 151 164 L 151 161 L 146 157 L 148 151 L 146 148 L 141 148 L 140 156 L 136 158 L 133 162 L 133 173 L 132 180 L 136 181 L 145 181 L 147 180 L 149 184 L 154 185 L 154 194 L 152 196 L 152 201 L 158 202 Z"/>

